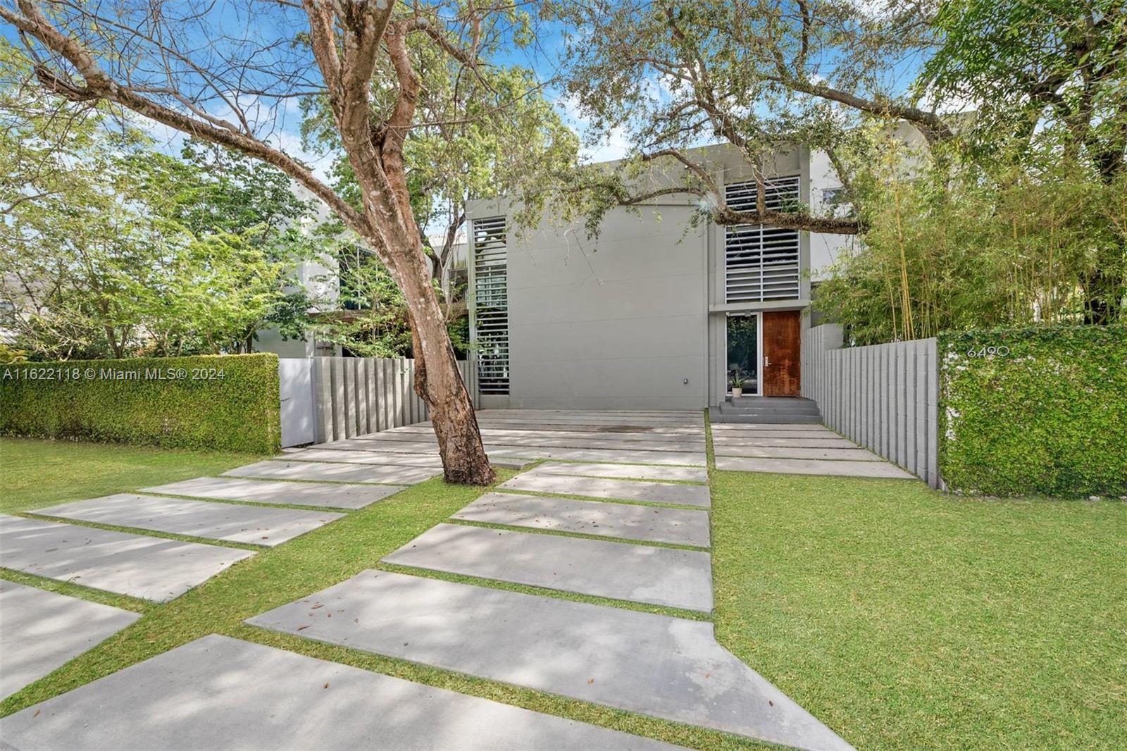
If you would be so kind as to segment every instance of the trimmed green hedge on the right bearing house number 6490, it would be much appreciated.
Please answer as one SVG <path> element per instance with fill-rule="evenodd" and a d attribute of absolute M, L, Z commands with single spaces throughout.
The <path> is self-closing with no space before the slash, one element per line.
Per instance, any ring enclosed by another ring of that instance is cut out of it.
<path fill-rule="evenodd" d="M 1127 328 L 949 333 L 939 361 L 948 488 L 1127 495 Z"/>

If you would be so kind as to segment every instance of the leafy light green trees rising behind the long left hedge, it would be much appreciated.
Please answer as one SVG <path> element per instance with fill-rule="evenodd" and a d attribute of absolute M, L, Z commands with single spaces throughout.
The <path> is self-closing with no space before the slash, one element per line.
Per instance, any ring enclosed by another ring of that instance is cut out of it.
<path fill-rule="evenodd" d="M 97 109 L 0 92 L 0 298 L 38 360 L 240 352 L 313 254 L 289 178 L 113 133 Z"/>

